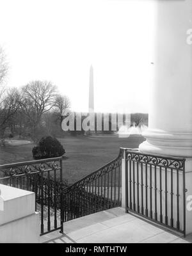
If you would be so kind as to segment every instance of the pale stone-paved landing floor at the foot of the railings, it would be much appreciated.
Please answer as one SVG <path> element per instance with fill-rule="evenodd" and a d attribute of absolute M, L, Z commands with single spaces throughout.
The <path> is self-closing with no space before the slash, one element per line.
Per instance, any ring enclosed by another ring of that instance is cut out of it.
<path fill-rule="evenodd" d="M 192 234 L 177 236 L 120 207 L 68 221 L 64 230 L 42 236 L 41 243 L 192 243 Z"/>

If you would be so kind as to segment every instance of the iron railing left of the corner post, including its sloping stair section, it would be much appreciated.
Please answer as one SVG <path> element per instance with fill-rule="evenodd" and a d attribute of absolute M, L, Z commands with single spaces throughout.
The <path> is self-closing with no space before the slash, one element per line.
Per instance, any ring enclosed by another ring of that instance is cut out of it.
<path fill-rule="evenodd" d="M 71 186 L 63 181 L 62 158 L 0 166 L 0 183 L 35 192 L 40 234 L 74 220 L 121 205 L 121 155 Z"/>

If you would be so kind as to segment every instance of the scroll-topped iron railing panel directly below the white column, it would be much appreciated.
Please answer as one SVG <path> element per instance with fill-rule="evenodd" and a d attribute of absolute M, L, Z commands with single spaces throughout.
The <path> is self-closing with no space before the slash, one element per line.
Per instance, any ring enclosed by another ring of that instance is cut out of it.
<path fill-rule="evenodd" d="M 186 234 L 185 159 L 124 149 L 125 208 Z"/>

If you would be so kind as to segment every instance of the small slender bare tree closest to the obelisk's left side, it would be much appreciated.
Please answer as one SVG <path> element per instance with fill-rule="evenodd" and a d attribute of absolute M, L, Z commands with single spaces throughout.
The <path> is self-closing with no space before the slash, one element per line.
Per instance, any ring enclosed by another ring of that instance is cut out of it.
<path fill-rule="evenodd" d="M 68 108 L 70 108 L 70 100 L 68 99 L 68 97 L 65 95 L 56 95 L 56 99 L 54 102 L 54 111 L 58 120 L 60 121 L 60 127 L 63 121 L 63 115 L 65 115 Z"/>

